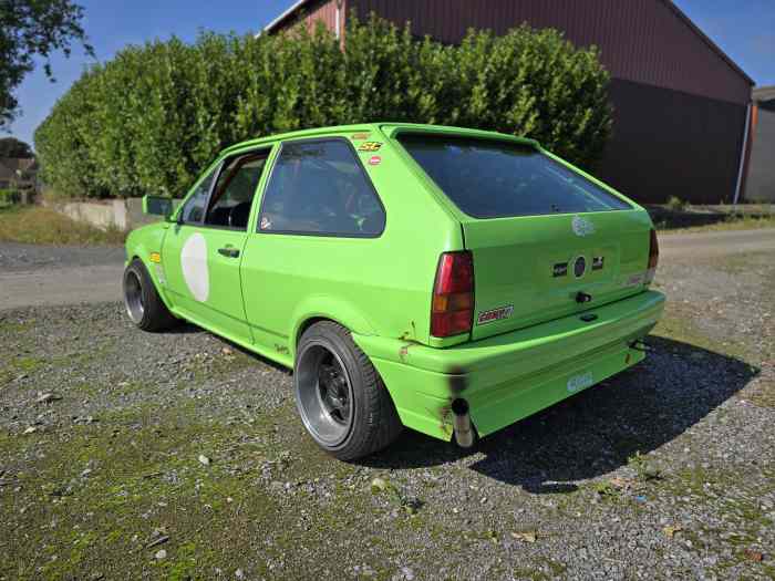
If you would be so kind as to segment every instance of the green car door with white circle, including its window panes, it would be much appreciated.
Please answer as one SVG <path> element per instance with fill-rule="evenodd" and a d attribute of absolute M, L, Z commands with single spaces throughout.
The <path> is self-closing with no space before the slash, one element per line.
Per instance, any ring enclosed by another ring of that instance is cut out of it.
<path fill-rule="evenodd" d="M 224 159 L 184 204 L 162 252 L 167 290 L 186 318 L 251 342 L 239 268 L 270 148 Z"/>

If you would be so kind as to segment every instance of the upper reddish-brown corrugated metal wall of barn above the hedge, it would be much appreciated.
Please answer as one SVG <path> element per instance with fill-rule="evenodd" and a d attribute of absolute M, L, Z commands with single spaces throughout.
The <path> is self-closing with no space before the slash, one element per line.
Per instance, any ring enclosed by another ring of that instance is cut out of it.
<path fill-rule="evenodd" d="M 617 79 L 733 103 L 751 84 L 670 0 L 350 0 L 360 18 L 376 12 L 417 35 L 459 42 L 469 28 L 503 34 L 521 22 L 556 28 L 575 44 L 597 44 Z"/>

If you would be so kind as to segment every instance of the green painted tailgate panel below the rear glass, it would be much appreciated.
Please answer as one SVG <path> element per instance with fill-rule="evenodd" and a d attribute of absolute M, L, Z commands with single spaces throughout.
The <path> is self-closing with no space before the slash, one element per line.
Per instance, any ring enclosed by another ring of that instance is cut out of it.
<path fill-rule="evenodd" d="M 643 290 L 650 225 L 636 211 L 463 222 L 474 257 L 473 339 Z M 589 234 L 580 236 L 579 229 Z"/>

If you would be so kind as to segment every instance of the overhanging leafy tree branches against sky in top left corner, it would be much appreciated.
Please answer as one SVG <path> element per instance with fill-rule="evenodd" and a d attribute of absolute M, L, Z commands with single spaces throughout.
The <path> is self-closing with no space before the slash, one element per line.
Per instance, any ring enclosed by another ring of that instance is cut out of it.
<path fill-rule="evenodd" d="M 52 81 L 49 58 L 54 51 L 70 56 L 73 41 L 89 55 L 94 50 L 81 28 L 83 8 L 72 0 L 0 0 L 0 128 L 13 121 L 19 103 L 13 92 L 35 68 L 35 56 Z"/>

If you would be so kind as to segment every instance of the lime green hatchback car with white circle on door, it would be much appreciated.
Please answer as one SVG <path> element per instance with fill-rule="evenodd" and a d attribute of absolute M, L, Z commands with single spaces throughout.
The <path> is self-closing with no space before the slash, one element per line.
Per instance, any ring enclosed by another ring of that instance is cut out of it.
<path fill-rule="evenodd" d="M 126 241 L 126 311 L 293 369 L 301 421 L 354 459 L 403 426 L 461 446 L 644 357 L 649 215 L 534 141 L 381 123 L 224 151 Z"/>

